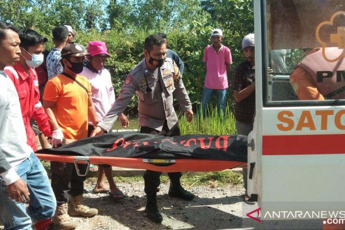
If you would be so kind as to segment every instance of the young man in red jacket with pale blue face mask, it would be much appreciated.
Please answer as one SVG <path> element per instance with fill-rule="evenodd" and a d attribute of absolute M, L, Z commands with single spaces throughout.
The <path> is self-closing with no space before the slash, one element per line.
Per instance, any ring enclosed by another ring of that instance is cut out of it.
<path fill-rule="evenodd" d="M 17 89 L 26 129 L 27 143 L 36 151 L 36 135 L 30 126 L 30 119 L 33 118 L 37 122 L 39 129 L 46 136 L 50 137 L 52 135 L 47 114 L 39 100 L 38 78 L 34 70 L 43 62 L 43 44 L 48 39 L 30 29 L 22 31 L 19 34 L 19 38 L 20 60 L 15 66 L 6 67 L 4 71 Z"/>

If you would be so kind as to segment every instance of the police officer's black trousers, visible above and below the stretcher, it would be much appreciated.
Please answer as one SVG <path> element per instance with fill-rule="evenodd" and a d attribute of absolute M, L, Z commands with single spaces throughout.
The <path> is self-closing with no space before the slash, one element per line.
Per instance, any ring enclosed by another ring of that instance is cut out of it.
<path fill-rule="evenodd" d="M 167 121 L 165 121 L 162 131 L 158 131 L 147 126 L 141 126 L 140 128 L 141 133 L 148 133 L 148 134 L 159 134 L 162 136 L 180 136 L 180 128 L 178 127 L 178 123 L 176 123 L 170 130 L 167 126 Z M 157 188 L 160 184 L 160 175 L 162 172 L 156 172 L 151 170 L 146 170 L 144 173 L 144 181 L 145 181 L 145 193 L 156 193 Z M 179 184 L 180 178 L 182 176 L 181 172 L 169 172 L 168 176 L 170 178 L 171 184 L 174 187 L 174 184 Z"/>

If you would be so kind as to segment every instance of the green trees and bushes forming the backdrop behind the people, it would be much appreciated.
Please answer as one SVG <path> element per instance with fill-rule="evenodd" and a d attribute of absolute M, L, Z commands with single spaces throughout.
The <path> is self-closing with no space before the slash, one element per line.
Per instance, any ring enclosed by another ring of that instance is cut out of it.
<path fill-rule="evenodd" d="M 184 84 L 192 103 L 200 103 L 205 81 L 204 48 L 211 44 L 214 28 L 223 30 L 223 44 L 230 48 L 233 69 L 244 60 L 243 37 L 254 32 L 253 0 L 0 0 L 0 20 L 21 29 L 31 28 L 51 41 L 51 29 L 68 24 L 77 30 L 76 43 L 107 43 L 111 58 L 107 68 L 119 93 L 127 74 L 144 58 L 144 40 L 166 32 L 168 48 L 185 63 Z M 46 49 L 53 47 L 47 43 Z M 231 83 L 231 70 L 228 80 Z M 229 102 L 233 102 L 231 87 Z M 129 106 L 137 107 L 137 98 Z"/>

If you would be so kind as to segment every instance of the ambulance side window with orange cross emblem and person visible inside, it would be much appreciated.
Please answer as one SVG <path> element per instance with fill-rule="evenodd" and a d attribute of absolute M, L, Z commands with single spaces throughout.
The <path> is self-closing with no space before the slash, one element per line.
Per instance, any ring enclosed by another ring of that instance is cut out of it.
<path fill-rule="evenodd" d="M 345 104 L 344 0 L 263 2 L 265 104 Z"/>

